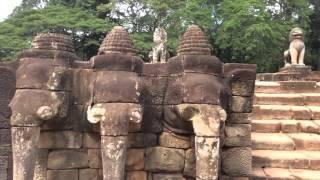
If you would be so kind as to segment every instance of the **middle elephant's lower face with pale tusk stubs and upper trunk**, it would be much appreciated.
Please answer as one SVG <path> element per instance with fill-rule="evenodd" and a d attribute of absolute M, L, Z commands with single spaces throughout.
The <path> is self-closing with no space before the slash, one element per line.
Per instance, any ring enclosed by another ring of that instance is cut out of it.
<path fill-rule="evenodd" d="M 101 135 L 125 136 L 129 132 L 129 121 L 141 122 L 142 108 L 131 103 L 96 104 L 88 110 L 88 120 L 92 123 L 100 121 Z"/>

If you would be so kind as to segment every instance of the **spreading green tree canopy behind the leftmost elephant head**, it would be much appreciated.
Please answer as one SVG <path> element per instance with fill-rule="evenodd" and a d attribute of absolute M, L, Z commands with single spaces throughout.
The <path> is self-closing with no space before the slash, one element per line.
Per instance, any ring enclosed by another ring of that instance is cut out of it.
<path fill-rule="evenodd" d="M 73 36 L 80 57 L 87 59 L 97 52 L 111 22 L 97 18 L 80 8 L 46 6 L 29 9 L 0 23 L 0 59 L 10 60 L 24 48 L 29 48 L 39 32 L 59 32 Z"/>

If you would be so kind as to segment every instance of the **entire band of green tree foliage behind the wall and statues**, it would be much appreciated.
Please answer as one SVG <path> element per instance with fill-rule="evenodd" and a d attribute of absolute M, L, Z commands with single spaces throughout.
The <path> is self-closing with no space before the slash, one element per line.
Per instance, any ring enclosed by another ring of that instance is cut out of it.
<path fill-rule="evenodd" d="M 190 24 L 203 28 L 222 61 L 255 63 L 260 72 L 282 65 L 295 26 L 306 31 L 307 63 L 315 66 L 320 56 L 318 0 L 23 0 L 0 23 L 0 58 L 28 47 L 36 33 L 53 31 L 73 35 L 78 54 L 87 59 L 111 24 L 128 29 L 145 60 L 156 27 L 167 30 L 173 56 Z"/>

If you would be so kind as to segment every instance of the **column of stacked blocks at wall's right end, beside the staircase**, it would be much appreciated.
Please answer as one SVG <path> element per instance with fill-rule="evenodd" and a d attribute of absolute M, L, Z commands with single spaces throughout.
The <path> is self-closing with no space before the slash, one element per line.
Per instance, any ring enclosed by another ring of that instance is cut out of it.
<path fill-rule="evenodd" d="M 256 66 L 225 64 L 224 73 L 230 78 L 231 99 L 224 127 L 222 149 L 222 176 L 226 179 L 250 177 L 251 117 Z"/>

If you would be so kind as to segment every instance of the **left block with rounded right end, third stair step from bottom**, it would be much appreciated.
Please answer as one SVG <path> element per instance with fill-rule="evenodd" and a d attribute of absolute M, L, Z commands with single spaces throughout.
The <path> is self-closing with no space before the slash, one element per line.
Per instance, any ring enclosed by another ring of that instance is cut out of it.
<path fill-rule="evenodd" d="M 251 133 L 253 150 L 294 150 L 294 141 L 282 133 Z"/>

